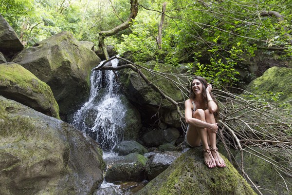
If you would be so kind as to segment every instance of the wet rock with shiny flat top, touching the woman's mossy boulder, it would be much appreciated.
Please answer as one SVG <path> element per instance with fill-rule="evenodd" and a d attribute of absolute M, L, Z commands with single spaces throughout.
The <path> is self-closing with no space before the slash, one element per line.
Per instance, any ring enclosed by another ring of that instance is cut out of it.
<path fill-rule="evenodd" d="M 154 179 L 156 176 L 164 172 L 171 163 L 177 159 L 180 153 L 156 153 L 151 155 L 146 163 L 146 175 L 149 180 Z"/>

